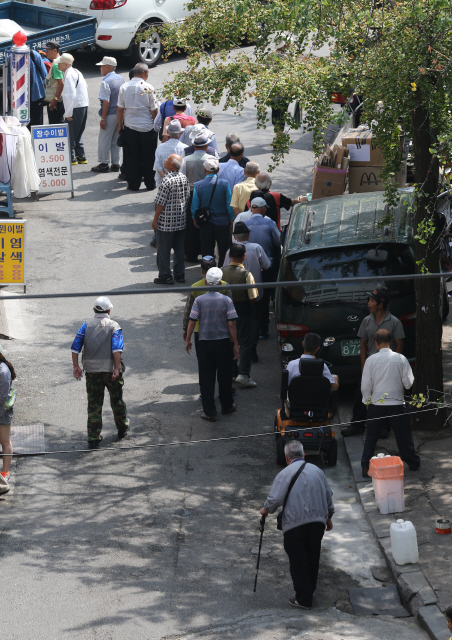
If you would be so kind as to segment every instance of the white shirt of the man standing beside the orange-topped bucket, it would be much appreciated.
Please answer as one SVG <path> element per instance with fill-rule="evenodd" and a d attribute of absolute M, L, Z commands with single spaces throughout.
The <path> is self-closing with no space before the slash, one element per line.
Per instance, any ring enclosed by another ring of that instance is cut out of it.
<path fill-rule="evenodd" d="M 410 389 L 414 382 L 410 363 L 401 353 L 392 349 L 380 349 L 370 356 L 364 365 L 361 380 L 363 403 L 384 405 L 405 404 L 404 388 Z"/>

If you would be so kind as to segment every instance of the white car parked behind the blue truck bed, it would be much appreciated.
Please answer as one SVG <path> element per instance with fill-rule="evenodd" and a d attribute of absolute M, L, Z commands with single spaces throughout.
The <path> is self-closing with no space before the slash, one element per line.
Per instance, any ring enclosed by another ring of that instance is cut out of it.
<path fill-rule="evenodd" d="M 33 0 L 33 4 L 87 13 L 97 18 L 96 46 L 102 50 L 123 51 L 133 63 L 157 64 L 162 56 L 158 31 L 136 43 L 136 35 L 162 22 L 173 22 L 187 15 L 188 0 Z"/>

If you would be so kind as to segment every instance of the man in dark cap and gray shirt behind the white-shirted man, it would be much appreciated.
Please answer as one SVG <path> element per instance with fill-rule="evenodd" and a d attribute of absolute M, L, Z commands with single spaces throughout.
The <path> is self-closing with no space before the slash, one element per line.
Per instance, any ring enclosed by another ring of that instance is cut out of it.
<path fill-rule="evenodd" d="M 397 353 L 403 352 L 403 341 L 405 332 L 402 323 L 398 318 L 388 311 L 389 291 L 387 289 L 374 289 L 370 291 L 367 301 L 369 315 L 361 322 L 358 331 L 358 338 L 361 338 L 360 355 L 361 355 L 361 372 L 366 364 L 366 359 L 377 353 L 375 346 L 375 334 L 378 329 L 388 329 L 393 336 L 391 349 Z M 366 428 L 367 412 L 366 407 L 362 403 L 361 385 L 358 386 L 355 395 L 355 404 L 353 405 L 352 424 L 341 429 L 343 436 L 352 436 L 355 433 L 362 433 Z M 387 437 L 384 432 L 380 437 Z"/>

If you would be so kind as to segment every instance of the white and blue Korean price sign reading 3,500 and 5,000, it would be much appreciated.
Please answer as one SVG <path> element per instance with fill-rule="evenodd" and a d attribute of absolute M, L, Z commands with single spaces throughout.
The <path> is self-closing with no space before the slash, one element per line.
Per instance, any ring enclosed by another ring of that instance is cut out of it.
<path fill-rule="evenodd" d="M 41 186 L 39 193 L 73 191 L 71 146 L 67 124 L 32 127 L 33 150 Z"/>

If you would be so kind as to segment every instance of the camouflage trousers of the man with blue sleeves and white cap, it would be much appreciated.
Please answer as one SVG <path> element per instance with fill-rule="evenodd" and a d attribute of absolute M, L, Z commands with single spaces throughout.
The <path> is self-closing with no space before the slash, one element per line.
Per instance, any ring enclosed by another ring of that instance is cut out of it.
<path fill-rule="evenodd" d="M 122 373 L 116 380 L 111 379 L 111 372 L 85 373 L 86 393 L 88 395 L 88 441 L 100 440 L 102 431 L 102 407 L 105 388 L 110 394 L 110 405 L 117 429 L 125 429 L 128 425 L 126 403 L 122 399 L 124 379 Z"/>

